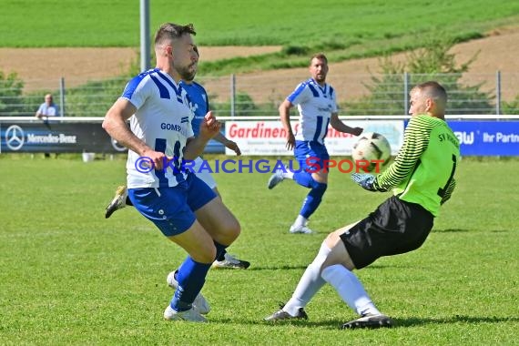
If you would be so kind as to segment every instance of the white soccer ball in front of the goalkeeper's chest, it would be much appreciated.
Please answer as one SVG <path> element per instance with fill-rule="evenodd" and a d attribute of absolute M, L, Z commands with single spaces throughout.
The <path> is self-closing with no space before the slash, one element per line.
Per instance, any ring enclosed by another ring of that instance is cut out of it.
<path fill-rule="evenodd" d="M 382 168 L 388 164 L 391 159 L 391 146 L 387 138 L 380 133 L 363 133 L 351 149 L 351 158 L 355 160 L 357 167 L 371 172 L 377 166 Z M 360 160 L 368 161 L 368 163 L 359 162 Z M 383 160 L 383 162 L 377 165 L 377 162 L 372 162 L 373 160 Z"/>

